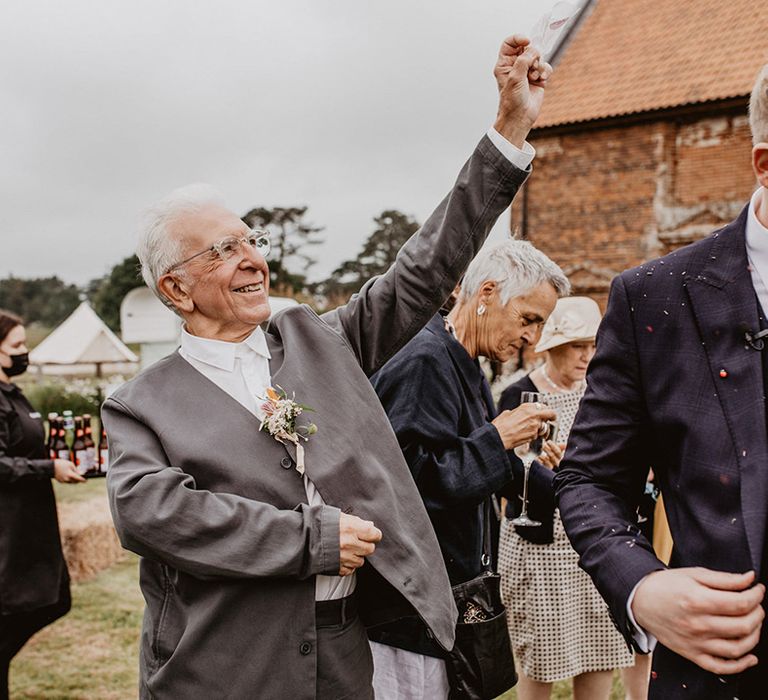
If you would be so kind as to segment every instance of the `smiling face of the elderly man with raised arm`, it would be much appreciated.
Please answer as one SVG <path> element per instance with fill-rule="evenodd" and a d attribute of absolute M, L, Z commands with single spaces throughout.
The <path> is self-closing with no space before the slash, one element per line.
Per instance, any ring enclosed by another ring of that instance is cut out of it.
<path fill-rule="evenodd" d="M 248 232 L 237 215 L 214 204 L 171 225 L 182 259 Z M 267 261 L 248 245 L 226 261 L 215 251 L 200 255 L 163 275 L 158 287 L 184 317 L 187 331 L 203 338 L 239 342 L 270 316 Z"/>

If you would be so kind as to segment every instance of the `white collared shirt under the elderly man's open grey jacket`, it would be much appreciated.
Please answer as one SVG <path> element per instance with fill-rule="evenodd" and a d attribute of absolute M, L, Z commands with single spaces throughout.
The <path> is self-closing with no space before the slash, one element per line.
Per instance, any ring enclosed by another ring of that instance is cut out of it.
<path fill-rule="evenodd" d="M 272 384 L 269 348 L 264 331 L 257 327 L 242 343 L 228 343 L 191 335 L 181 330 L 181 355 L 200 374 L 242 404 L 259 419 L 264 417 L 260 398 Z M 254 427 L 254 430 L 258 429 Z M 308 465 L 311 471 L 311 466 Z M 311 506 L 325 505 L 315 485 L 304 474 L 304 491 Z M 355 574 L 315 577 L 315 600 L 335 600 L 355 590 Z"/>

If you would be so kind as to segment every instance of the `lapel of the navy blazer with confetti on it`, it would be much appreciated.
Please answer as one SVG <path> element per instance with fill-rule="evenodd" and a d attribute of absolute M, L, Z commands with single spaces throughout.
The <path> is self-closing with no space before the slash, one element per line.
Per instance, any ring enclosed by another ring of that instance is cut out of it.
<path fill-rule="evenodd" d="M 768 438 L 761 353 L 744 339 L 745 328 L 759 329 L 745 223 L 746 209 L 715 234 L 708 263 L 686 284 L 686 291 L 733 441 L 741 476 L 744 529 L 759 573 L 768 511 Z"/>

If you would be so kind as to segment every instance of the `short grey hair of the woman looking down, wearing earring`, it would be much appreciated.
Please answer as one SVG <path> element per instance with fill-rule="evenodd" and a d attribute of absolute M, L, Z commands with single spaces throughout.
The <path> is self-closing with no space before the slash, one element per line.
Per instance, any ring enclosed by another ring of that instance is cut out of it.
<path fill-rule="evenodd" d="M 484 282 L 496 282 L 501 303 L 528 294 L 549 283 L 560 297 L 568 296 L 571 283 L 560 267 L 528 241 L 506 240 L 480 251 L 461 283 L 463 301 L 474 297 Z"/>

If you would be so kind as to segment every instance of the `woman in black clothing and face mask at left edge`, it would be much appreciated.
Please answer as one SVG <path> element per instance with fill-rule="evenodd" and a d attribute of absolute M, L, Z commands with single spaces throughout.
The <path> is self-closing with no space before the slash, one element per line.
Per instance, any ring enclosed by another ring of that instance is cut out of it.
<path fill-rule="evenodd" d="M 72 462 L 48 458 L 40 414 L 11 383 L 27 369 L 26 342 L 21 319 L 0 311 L 0 700 L 11 659 L 70 606 L 51 478 L 85 481 Z"/>

